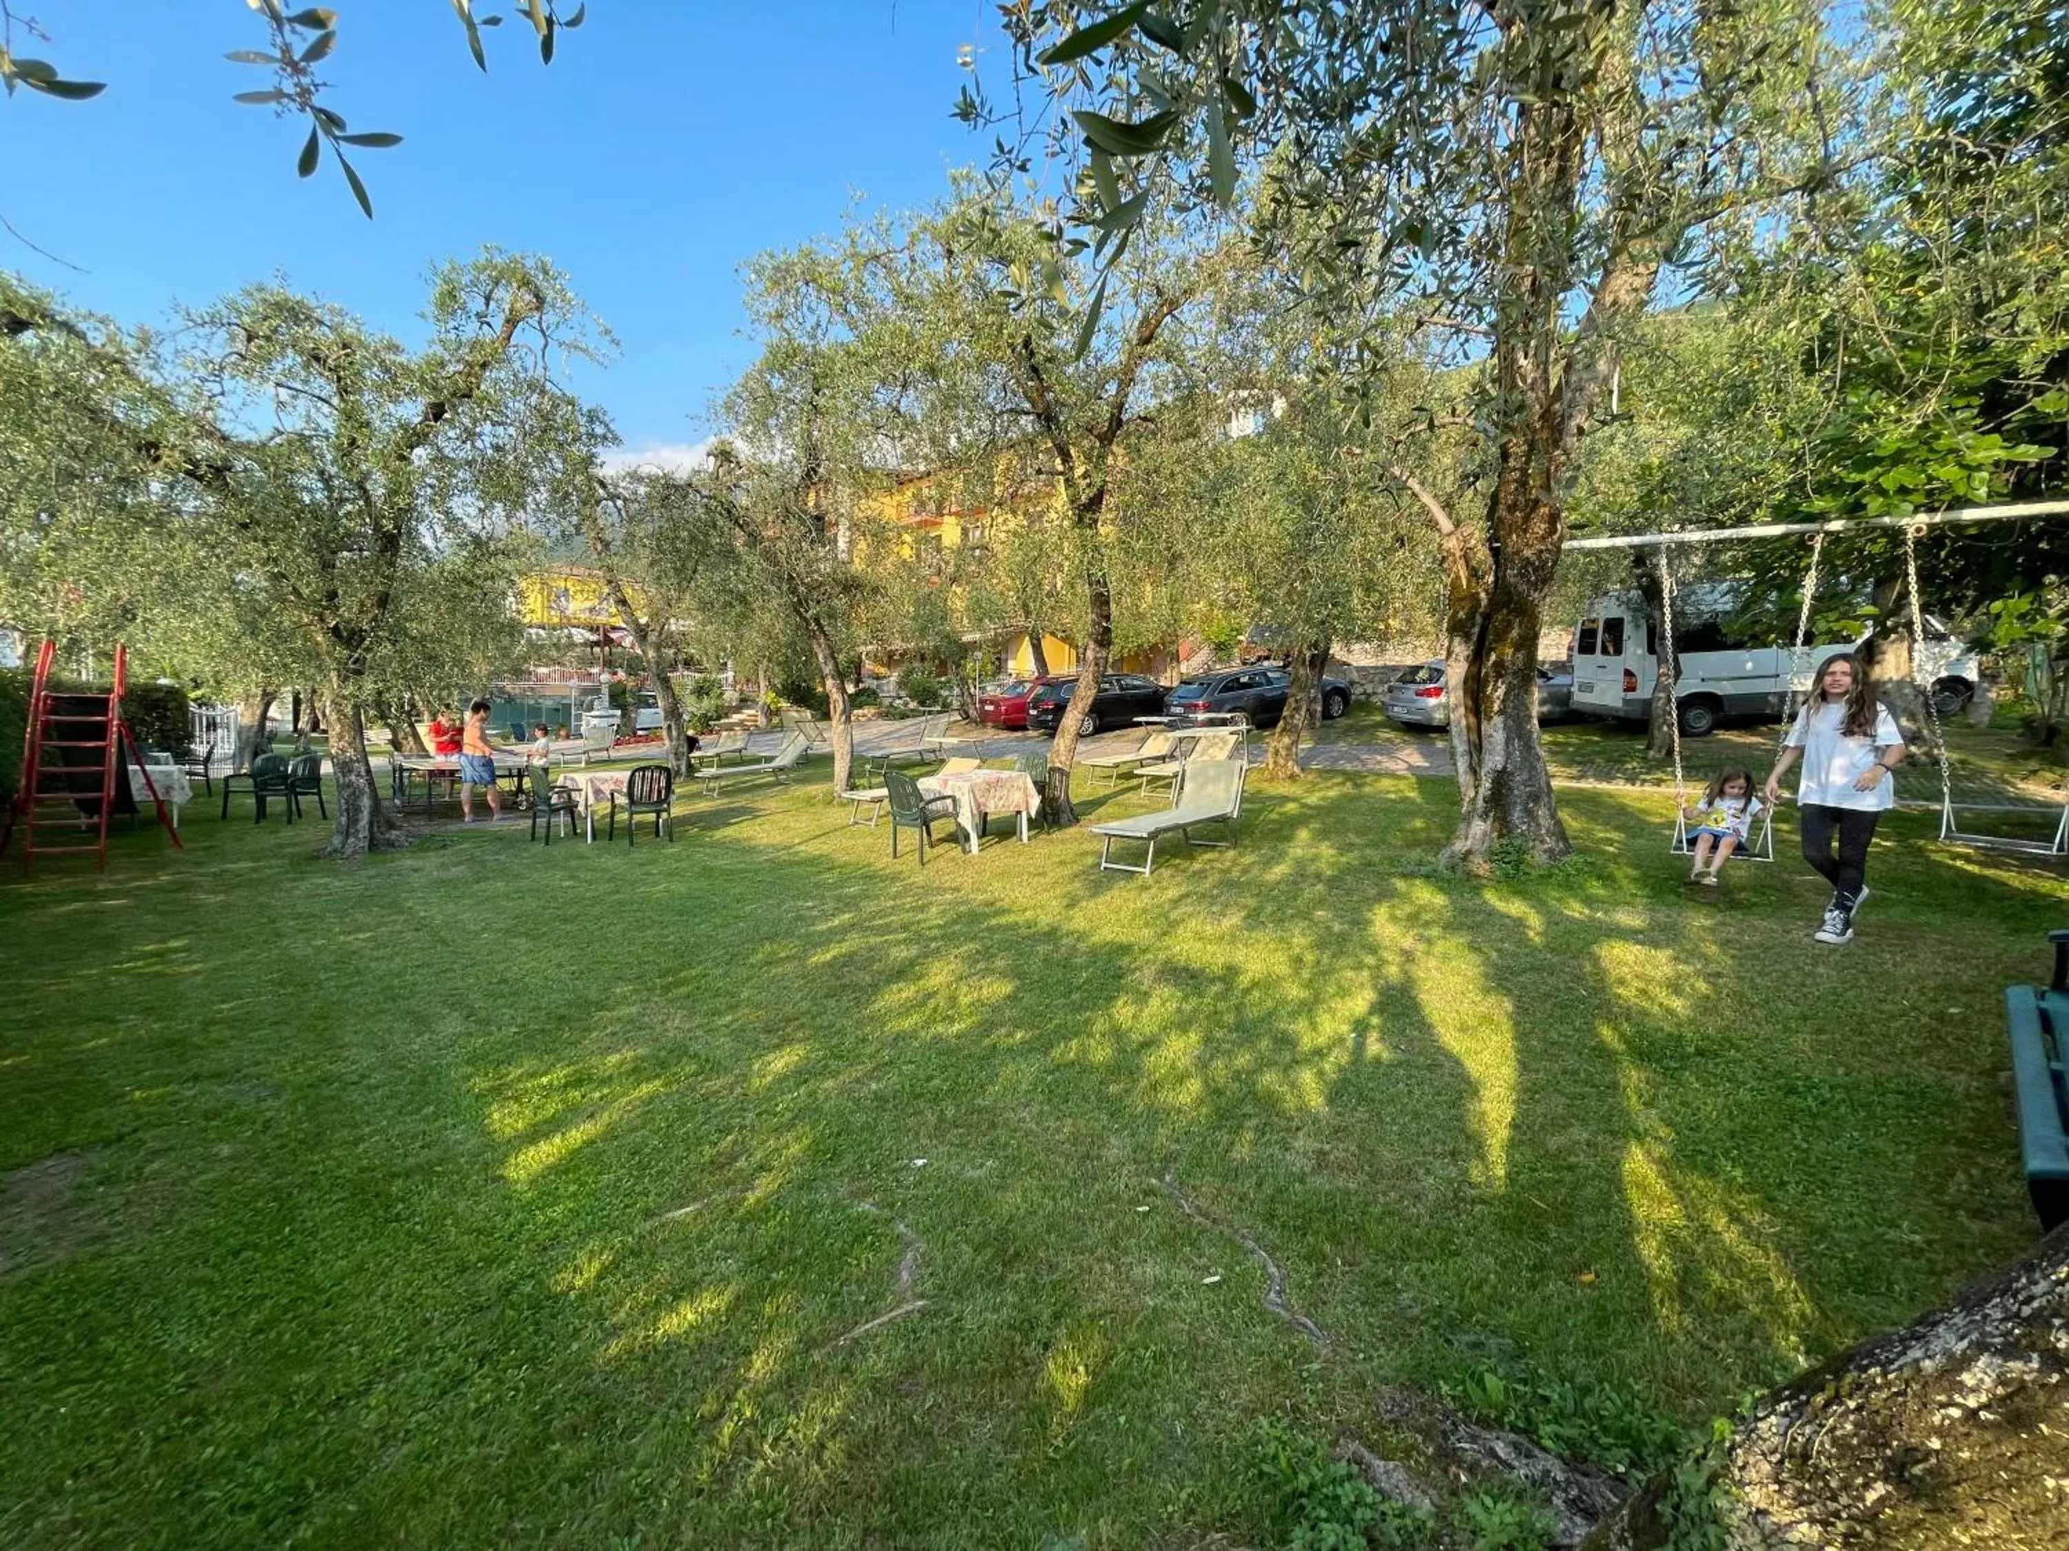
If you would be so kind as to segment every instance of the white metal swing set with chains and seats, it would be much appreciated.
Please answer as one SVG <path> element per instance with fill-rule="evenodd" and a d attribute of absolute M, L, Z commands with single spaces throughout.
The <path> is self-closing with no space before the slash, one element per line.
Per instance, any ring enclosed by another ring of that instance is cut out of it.
<path fill-rule="evenodd" d="M 1819 565 L 1825 558 L 1825 538 L 1829 534 L 1850 534 L 1856 529 L 1872 527 L 1897 527 L 1903 531 L 1903 573 L 1906 591 L 1910 596 L 1912 612 L 1912 643 L 1924 641 L 1924 608 L 1918 600 L 1918 540 L 1930 527 L 1949 527 L 1957 523 L 2001 523 L 2001 521 L 2028 521 L 2034 517 L 2065 517 L 2069 515 L 2069 500 L 2021 500 L 2001 507 L 1949 507 L 1937 513 L 1916 513 L 1912 517 L 1852 517 L 1833 519 L 1823 523 L 1759 523 L 1750 527 L 1711 527 L 1711 529 L 1676 529 L 1666 534 L 1603 534 L 1597 538 L 1577 538 L 1566 544 L 1568 550 L 1651 550 L 1653 565 L 1659 573 L 1659 625 L 1663 633 L 1666 651 L 1659 660 L 1659 672 L 1668 680 L 1668 693 L 1674 693 L 1674 577 L 1668 567 L 1670 546 L 1701 546 L 1701 544 L 1723 544 L 1744 538 L 1788 538 L 1794 534 L 1810 536 L 1810 573 L 1804 577 L 1804 598 L 1802 610 L 1796 618 L 1796 641 L 1790 647 L 1790 691 L 1788 703 L 1781 713 L 1781 738 L 1779 749 L 1788 744 L 1790 728 L 1796 722 L 1796 680 L 1804 676 L 1804 651 L 1810 635 L 1810 606 L 1817 598 Z M 1939 761 L 1941 778 L 1941 833 L 1939 838 L 1955 846 L 1976 846 L 1984 850 L 2005 850 L 2019 852 L 2023 856 L 2046 856 L 2061 858 L 2069 856 L 2069 778 L 2063 782 L 2063 802 L 2057 815 L 2055 804 L 1988 804 L 1988 802 L 1955 802 L 1953 800 L 1953 765 L 1947 761 L 1947 736 L 1941 726 L 1939 705 L 1932 701 L 1932 691 L 1920 695 L 1926 707 L 1926 722 L 1932 728 L 1932 753 Z M 1695 846 L 1688 835 L 1688 792 L 1682 778 L 1682 751 L 1680 751 L 1680 716 L 1672 718 L 1670 744 L 1674 749 L 1674 840 L 1668 846 L 1674 854 L 1690 854 Z M 1974 829 L 1961 829 L 1959 813 L 1968 811 L 1990 811 L 1990 813 L 2040 813 L 2057 815 L 2055 835 L 2050 840 L 2030 840 L 2021 835 L 1990 835 Z M 1775 813 L 1771 807 L 1761 809 L 1761 831 L 1746 846 L 1732 852 L 1734 858 L 1744 856 L 1748 860 L 1771 862 L 1775 858 L 1775 835 L 1773 835 Z"/>

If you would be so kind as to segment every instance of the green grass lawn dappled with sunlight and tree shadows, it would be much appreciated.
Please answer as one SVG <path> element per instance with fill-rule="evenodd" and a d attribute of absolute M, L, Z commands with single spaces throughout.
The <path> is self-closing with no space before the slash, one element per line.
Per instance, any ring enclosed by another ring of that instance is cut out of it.
<path fill-rule="evenodd" d="M 805 788 L 8 858 L 0 1543 L 1254 1545 L 1262 1417 L 1523 1365 L 1697 1421 L 2034 1239 L 2059 871 L 1899 817 L 1825 949 L 1788 860 L 1692 900 L 1657 794 L 1490 883 L 1455 802 L 1256 788 L 1146 881 Z"/>

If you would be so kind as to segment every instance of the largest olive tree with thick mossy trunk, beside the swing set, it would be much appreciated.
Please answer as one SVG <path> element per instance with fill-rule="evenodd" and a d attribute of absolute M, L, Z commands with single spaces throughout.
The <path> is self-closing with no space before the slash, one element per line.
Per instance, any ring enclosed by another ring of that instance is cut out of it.
<path fill-rule="evenodd" d="M 1562 856 L 1535 668 L 1577 455 L 1661 277 L 1852 157 L 1819 8 L 1030 0 L 1010 27 L 1018 68 L 1076 103 L 1086 230 L 1128 230 L 1159 188 L 1227 205 L 1256 165 L 1312 294 L 1392 298 L 1479 366 L 1473 492 L 1419 496 L 1448 573 L 1450 856 Z"/>

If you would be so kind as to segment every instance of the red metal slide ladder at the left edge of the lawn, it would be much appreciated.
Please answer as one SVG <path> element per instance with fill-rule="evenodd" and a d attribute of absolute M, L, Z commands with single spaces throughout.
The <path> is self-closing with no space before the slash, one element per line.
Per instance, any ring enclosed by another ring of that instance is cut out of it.
<path fill-rule="evenodd" d="M 93 856 L 97 873 L 108 871 L 108 819 L 116 804 L 116 761 L 128 753 L 143 771 L 145 790 L 157 807 L 157 821 L 172 838 L 174 850 L 186 850 L 180 831 L 166 813 L 149 765 L 137 749 L 137 738 L 122 720 L 122 691 L 128 687 L 128 651 L 116 645 L 116 678 L 112 691 L 52 689 L 50 664 L 56 641 L 43 641 L 35 653 L 35 680 L 29 689 L 29 732 L 21 761 L 21 790 L 8 809 L 6 829 L 0 829 L 0 854 L 21 831 L 21 866 L 29 871 L 37 856 Z M 48 838 L 46 835 L 54 835 Z"/>

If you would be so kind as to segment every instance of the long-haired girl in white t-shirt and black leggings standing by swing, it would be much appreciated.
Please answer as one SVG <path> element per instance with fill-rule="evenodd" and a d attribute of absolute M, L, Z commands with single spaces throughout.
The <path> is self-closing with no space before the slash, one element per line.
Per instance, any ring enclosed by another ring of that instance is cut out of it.
<path fill-rule="evenodd" d="M 1804 860 L 1831 879 L 1831 904 L 1812 937 L 1843 943 L 1854 937 L 1854 912 L 1868 898 L 1875 821 L 1897 800 L 1889 771 L 1903 763 L 1897 720 L 1875 699 L 1868 668 L 1852 651 L 1827 658 L 1819 670 L 1817 699 L 1796 713 L 1796 726 L 1767 778 L 1769 807 L 1798 759 L 1804 761 L 1802 782 L 1796 786 Z"/>

